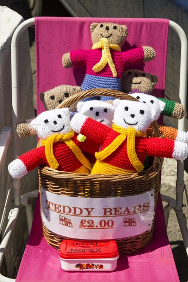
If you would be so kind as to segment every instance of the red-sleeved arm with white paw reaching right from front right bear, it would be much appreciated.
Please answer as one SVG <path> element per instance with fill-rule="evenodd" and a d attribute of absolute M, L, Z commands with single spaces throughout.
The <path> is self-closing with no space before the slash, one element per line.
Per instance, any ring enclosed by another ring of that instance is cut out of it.
<path fill-rule="evenodd" d="M 142 139 L 143 142 L 143 139 Z M 188 145 L 166 138 L 146 138 L 145 152 L 149 156 L 167 157 L 183 160 L 188 154 Z"/>

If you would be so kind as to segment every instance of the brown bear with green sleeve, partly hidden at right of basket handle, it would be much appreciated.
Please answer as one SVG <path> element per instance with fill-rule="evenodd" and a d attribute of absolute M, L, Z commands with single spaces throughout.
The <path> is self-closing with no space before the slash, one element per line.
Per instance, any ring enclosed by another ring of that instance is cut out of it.
<path fill-rule="evenodd" d="M 125 93 L 141 92 L 152 94 L 154 86 L 158 82 L 157 75 L 153 75 L 141 70 L 127 70 L 123 73 L 121 80 L 121 90 Z M 184 116 L 183 105 L 171 100 L 158 98 L 162 100 L 166 106 L 161 114 L 181 119 Z"/>

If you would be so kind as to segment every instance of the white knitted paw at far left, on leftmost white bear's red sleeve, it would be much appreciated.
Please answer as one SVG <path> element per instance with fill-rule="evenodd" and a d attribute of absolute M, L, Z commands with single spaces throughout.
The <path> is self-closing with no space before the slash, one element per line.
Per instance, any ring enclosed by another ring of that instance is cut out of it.
<path fill-rule="evenodd" d="M 21 178 L 28 173 L 26 166 L 19 158 L 8 165 L 8 171 L 13 178 Z"/>

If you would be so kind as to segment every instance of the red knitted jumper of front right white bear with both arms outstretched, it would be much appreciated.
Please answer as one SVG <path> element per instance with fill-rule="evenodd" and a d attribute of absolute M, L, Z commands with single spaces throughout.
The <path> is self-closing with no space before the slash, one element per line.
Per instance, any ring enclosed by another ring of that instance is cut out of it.
<path fill-rule="evenodd" d="M 81 128 L 81 134 L 92 139 L 93 142 L 101 143 L 101 151 L 111 144 L 118 135 L 120 135 L 120 133 L 112 130 L 109 127 L 106 127 L 101 123 L 96 122 L 96 120 L 93 120 L 89 117 L 85 120 L 85 123 Z M 135 139 L 135 150 L 142 164 L 144 163 L 146 155 L 172 158 L 174 146 L 174 140 L 170 139 L 162 139 L 157 137 L 136 137 Z M 135 168 L 130 163 L 127 154 L 127 138 L 114 152 L 103 159 L 103 162 L 123 170 L 135 171 Z M 98 164 L 96 163 L 95 166 L 97 165 Z M 94 170 L 95 173 L 101 173 L 101 171 L 98 171 L 95 166 L 93 167 L 92 171 Z M 103 171 L 102 173 L 108 174 L 106 171 Z M 110 173 L 113 172 L 110 171 Z"/>

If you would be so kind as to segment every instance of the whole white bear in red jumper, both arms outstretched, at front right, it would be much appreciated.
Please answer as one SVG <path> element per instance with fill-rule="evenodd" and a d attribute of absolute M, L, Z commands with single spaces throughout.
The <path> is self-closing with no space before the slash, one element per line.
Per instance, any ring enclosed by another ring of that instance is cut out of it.
<path fill-rule="evenodd" d="M 71 119 L 71 127 L 93 142 L 102 144 L 96 152 L 97 162 L 91 174 L 125 174 L 141 172 L 147 155 L 185 159 L 188 146 L 166 138 L 144 137 L 155 119 L 156 111 L 144 103 L 130 100 L 114 101 L 112 129 L 82 113 Z M 91 144 L 92 146 L 92 144 Z"/>

